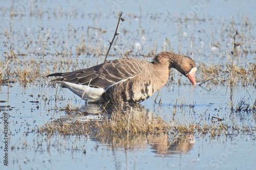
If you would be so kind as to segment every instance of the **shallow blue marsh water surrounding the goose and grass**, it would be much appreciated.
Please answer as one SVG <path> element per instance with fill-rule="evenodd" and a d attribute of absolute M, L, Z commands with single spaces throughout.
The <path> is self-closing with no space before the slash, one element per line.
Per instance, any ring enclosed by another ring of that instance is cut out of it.
<path fill-rule="evenodd" d="M 7 69 L 11 72 L 18 69 L 19 65 L 12 65 L 15 60 L 27 63 L 20 67 L 51 72 L 100 63 L 104 55 L 94 55 L 94 52 L 98 48 L 102 50 L 99 54 L 106 52 L 116 27 L 117 14 L 122 10 L 126 20 L 120 26 L 115 50 L 111 50 L 111 54 L 118 56 L 109 59 L 122 57 L 130 50 L 133 50 L 132 55 L 140 58 L 143 58 L 140 54 L 151 54 L 152 51 L 173 50 L 189 55 L 197 62 L 225 65 L 230 60 L 234 33 L 226 30 L 238 28 L 246 42 L 240 48 L 241 58 L 235 62 L 246 66 L 248 62 L 255 63 L 256 59 L 252 52 L 256 44 L 255 8 L 253 1 L 202 1 L 202 4 L 199 1 L 6 1 L 0 15 L 0 21 L 4 23 L 0 26 L 0 62 L 6 63 L 6 54 L 13 49 L 18 57 L 12 59 Z M 10 15 L 12 12 L 13 16 Z M 101 28 L 106 33 L 94 29 L 87 33 L 88 26 Z M 46 55 L 42 55 L 49 32 Z M 77 45 L 82 44 L 92 51 L 78 56 Z M 136 48 L 138 44 L 140 48 Z M 217 46 L 213 48 L 212 45 Z M 243 53 L 245 51 L 248 53 Z M 31 60 L 44 62 L 37 68 Z M 57 65 L 55 61 L 59 60 L 63 62 Z M 69 65 L 69 62 L 74 64 Z M 177 83 L 179 78 L 182 85 Z M 125 139 L 113 136 L 49 136 L 34 130 L 58 118 L 72 122 L 101 117 L 98 114 L 68 115 L 61 109 L 68 103 L 78 106 L 80 99 L 69 90 L 58 88 L 55 101 L 56 88 L 49 85 L 50 80 L 46 78 L 36 79 L 26 86 L 16 80 L 16 83 L 0 87 L 0 168 L 253 169 L 256 166 L 256 116 L 246 107 L 252 108 L 255 103 L 255 87 L 234 86 L 231 92 L 229 86 L 205 83 L 193 87 L 185 77 L 176 76 L 175 79 L 175 84 L 162 88 L 157 104 L 154 102 L 157 94 L 142 102 L 141 112 L 149 117 L 160 116 L 166 121 L 174 119 L 184 125 L 211 125 L 211 118 L 215 116 L 224 119 L 222 122 L 230 127 L 248 127 L 251 131 L 215 137 L 199 133 L 141 135 L 134 136 L 129 145 L 125 144 Z M 158 104 L 160 99 L 161 104 Z M 243 105 L 240 105 L 241 101 Z M 242 106 L 241 111 L 236 111 L 239 106 Z M 81 102 L 79 110 L 97 113 L 102 107 Z M 7 137 L 4 133 L 5 114 L 9 123 Z M 5 152 L 5 140 L 8 140 L 8 152 Z M 4 165 L 6 153 L 8 166 Z"/>

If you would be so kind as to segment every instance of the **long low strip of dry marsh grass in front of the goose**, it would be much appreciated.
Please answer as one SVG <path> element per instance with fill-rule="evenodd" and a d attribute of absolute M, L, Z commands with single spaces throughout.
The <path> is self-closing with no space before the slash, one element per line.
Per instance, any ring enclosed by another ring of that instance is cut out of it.
<path fill-rule="evenodd" d="M 73 115 L 72 115 L 73 114 Z M 90 113 L 79 112 L 80 117 L 74 118 L 74 113 L 69 117 L 59 118 L 37 129 L 38 133 L 51 136 L 59 135 L 91 135 L 119 136 L 130 140 L 133 136 L 161 135 L 161 134 L 199 134 L 210 135 L 212 138 L 220 135 L 232 135 L 240 132 L 254 132 L 252 126 L 233 126 L 216 118 L 211 123 L 192 123 L 179 119 L 166 121 L 157 115 L 148 115 L 131 107 L 125 112 L 113 111 L 112 114 L 101 112 L 99 119 L 84 121 L 83 116 Z M 73 117 L 73 118 L 72 118 Z"/>

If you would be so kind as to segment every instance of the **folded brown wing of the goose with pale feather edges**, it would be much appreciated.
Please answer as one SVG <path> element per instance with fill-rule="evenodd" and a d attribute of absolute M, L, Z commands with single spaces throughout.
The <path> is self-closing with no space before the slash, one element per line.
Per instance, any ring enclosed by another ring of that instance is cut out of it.
<path fill-rule="evenodd" d="M 66 81 L 76 84 L 88 85 L 97 88 L 106 88 L 121 80 L 133 77 L 150 62 L 136 59 L 123 58 L 111 60 L 91 68 L 78 69 L 72 72 L 56 73 L 48 76 L 62 76 L 53 81 Z"/>

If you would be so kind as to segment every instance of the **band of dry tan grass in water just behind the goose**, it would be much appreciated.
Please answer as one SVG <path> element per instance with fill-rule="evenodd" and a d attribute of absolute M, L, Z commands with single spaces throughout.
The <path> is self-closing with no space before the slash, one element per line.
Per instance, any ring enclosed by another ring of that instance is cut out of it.
<path fill-rule="evenodd" d="M 84 47 L 84 46 L 83 46 Z M 79 50 L 80 51 L 80 50 Z M 100 52 L 103 54 L 103 52 Z M 78 68 L 93 66 L 93 63 L 88 63 L 87 59 L 79 61 L 79 58 L 76 58 L 75 60 L 59 60 L 57 61 L 57 58 L 60 57 L 54 57 L 56 60 L 53 60 L 51 62 L 47 62 L 47 66 L 41 59 L 33 59 L 33 60 L 27 60 L 28 56 L 22 56 L 18 57 L 17 59 L 13 60 L 12 58 L 18 55 L 15 52 L 10 52 L 5 54 L 6 59 L 10 60 L 9 68 L 5 70 L 3 74 L 1 74 L 2 79 L 9 79 L 10 81 L 19 82 L 20 84 L 23 84 L 26 86 L 28 83 L 34 83 L 34 82 L 41 82 L 42 84 L 48 83 L 47 79 L 44 78 L 47 74 L 50 74 L 51 72 L 55 71 L 67 71 L 67 70 L 75 70 Z M 58 54 L 57 54 L 58 55 Z M 92 54 L 91 52 L 87 52 L 89 56 L 101 56 L 101 54 Z M 23 59 L 26 58 L 27 59 Z M 79 57 L 79 56 L 78 56 Z M 77 63 L 84 63 L 86 66 L 77 66 Z M 14 67 L 14 65 L 16 65 Z M 63 67 L 61 70 L 59 70 L 58 66 L 62 65 Z M 197 82 L 204 82 L 206 80 L 209 80 L 211 78 L 214 78 L 207 82 L 206 86 L 209 84 L 214 85 L 225 85 L 228 86 L 230 82 L 230 77 L 228 74 L 228 70 L 231 69 L 231 65 L 225 64 L 209 64 L 209 63 L 197 63 L 198 65 L 198 71 L 197 71 Z M 2 66 L 3 67 L 3 66 Z M 15 69 L 14 69 L 15 68 Z M 232 71 L 232 81 L 233 86 L 248 86 L 252 85 L 255 86 L 255 63 L 247 63 L 245 66 L 237 66 L 236 64 L 233 65 L 233 71 Z M 216 77 L 216 78 L 215 78 Z M 168 84 L 185 84 L 186 79 L 184 77 L 180 77 L 179 74 L 174 73 L 170 76 L 170 80 Z"/>

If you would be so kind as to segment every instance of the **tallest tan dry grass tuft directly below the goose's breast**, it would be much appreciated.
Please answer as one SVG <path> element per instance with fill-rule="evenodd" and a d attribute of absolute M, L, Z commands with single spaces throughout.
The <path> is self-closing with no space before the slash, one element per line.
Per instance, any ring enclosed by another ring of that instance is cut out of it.
<path fill-rule="evenodd" d="M 112 113 L 110 119 L 103 119 L 97 126 L 102 134 L 113 133 L 116 135 L 160 134 L 168 133 L 170 129 L 170 124 L 161 117 L 148 117 L 132 108 L 126 113 Z"/>

